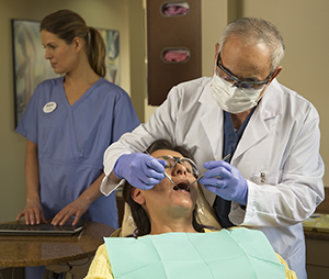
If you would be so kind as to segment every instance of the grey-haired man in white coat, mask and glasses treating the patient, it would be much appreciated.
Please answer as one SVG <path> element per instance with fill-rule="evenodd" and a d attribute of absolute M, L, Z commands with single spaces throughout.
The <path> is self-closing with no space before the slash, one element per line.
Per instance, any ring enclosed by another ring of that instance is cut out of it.
<path fill-rule="evenodd" d="M 228 24 L 216 44 L 213 77 L 173 87 L 146 124 L 107 148 L 101 190 L 122 178 L 154 187 L 162 169 L 136 152 L 156 138 L 188 145 L 222 225 L 262 231 L 297 277 L 307 278 L 302 222 L 324 200 L 325 167 L 317 110 L 276 80 L 284 48 L 264 20 Z M 228 153 L 230 164 L 220 160 Z"/>

